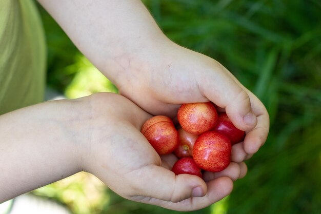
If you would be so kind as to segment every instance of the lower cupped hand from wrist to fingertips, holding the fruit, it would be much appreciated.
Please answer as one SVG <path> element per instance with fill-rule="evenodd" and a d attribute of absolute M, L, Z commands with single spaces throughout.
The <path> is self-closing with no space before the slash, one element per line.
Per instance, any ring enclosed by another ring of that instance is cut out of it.
<path fill-rule="evenodd" d="M 175 176 L 170 170 L 174 155 L 162 160 L 140 132 L 150 114 L 111 93 L 92 95 L 90 106 L 91 138 L 82 148 L 82 168 L 126 199 L 174 210 L 200 209 L 227 196 L 231 178 L 246 173 L 232 163 L 206 176 L 207 182 L 189 174 Z"/>

